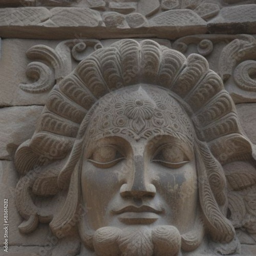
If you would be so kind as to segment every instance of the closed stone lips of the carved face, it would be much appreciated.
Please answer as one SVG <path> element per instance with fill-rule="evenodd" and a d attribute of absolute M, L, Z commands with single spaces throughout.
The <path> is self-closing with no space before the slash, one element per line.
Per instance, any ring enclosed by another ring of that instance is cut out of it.
<path fill-rule="evenodd" d="M 159 214 L 163 210 L 157 210 L 150 206 L 142 205 L 136 207 L 133 205 L 126 206 L 119 210 L 113 210 L 118 215 L 118 220 L 124 224 L 152 224 L 159 219 Z"/>

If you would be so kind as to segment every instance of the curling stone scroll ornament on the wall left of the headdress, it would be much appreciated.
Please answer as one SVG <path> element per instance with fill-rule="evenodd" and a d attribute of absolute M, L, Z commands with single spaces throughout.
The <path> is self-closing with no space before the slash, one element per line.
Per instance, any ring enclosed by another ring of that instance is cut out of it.
<path fill-rule="evenodd" d="M 84 55 L 92 50 L 102 48 L 96 39 L 74 39 L 60 42 L 55 49 L 48 46 L 37 45 L 31 47 L 26 55 L 33 61 L 29 63 L 26 74 L 35 82 L 20 83 L 19 88 L 28 93 L 42 93 L 53 88 L 55 81 L 59 82 L 63 77 L 71 73 L 72 58 L 81 61 Z M 47 64 L 47 65 L 46 65 Z"/>

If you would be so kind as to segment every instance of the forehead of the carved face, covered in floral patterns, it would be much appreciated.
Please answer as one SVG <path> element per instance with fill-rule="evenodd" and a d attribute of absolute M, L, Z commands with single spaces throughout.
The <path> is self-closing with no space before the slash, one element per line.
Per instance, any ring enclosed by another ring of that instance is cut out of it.
<path fill-rule="evenodd" d="M 193 146 L 194 127 L 177 100 L 160 88 L 134 86 L 102 97 L 86 132 L 86 140 L 119 136 L 151 140 L 170 135 Z"/>

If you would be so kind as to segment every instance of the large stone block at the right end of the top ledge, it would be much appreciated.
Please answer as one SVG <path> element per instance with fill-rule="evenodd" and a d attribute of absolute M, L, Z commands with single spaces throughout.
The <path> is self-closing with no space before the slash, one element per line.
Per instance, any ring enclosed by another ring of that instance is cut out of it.
<path fill-rule="evenodd" d="M 211 33 L 242 34 L 256 33 L 256 5 L 225 7 L 210 20 L 207 28 Z"/>

